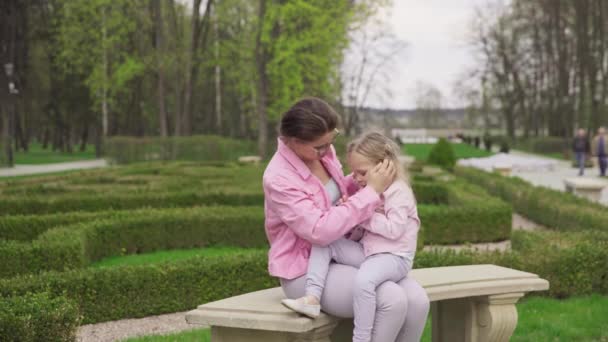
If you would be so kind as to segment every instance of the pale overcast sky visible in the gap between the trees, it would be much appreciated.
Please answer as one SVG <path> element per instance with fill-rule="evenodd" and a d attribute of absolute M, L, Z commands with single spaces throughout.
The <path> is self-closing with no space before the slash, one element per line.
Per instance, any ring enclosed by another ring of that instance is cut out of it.
<path fill-rule="evenodd" d="M 392 98 L 370 95 L 367 104 L 377 108 L 415 108 L 417 81 L 437 87 L 444 98 L 442 106 L 458 107 L 462 102 L 453 94 L 459 75 L 475 63 L 467 45 L 475 6 L 490 0 L 393 0 L 384 14 L 395 35 L 407 47 L 392 64 L 389 84 Z"/>

